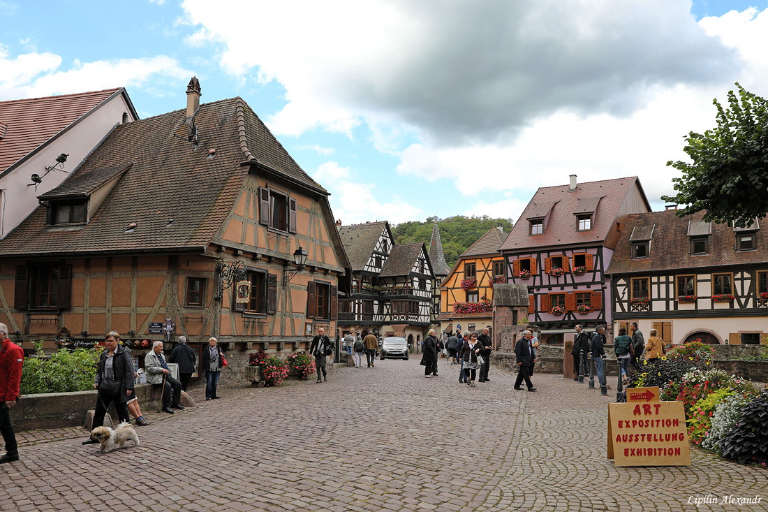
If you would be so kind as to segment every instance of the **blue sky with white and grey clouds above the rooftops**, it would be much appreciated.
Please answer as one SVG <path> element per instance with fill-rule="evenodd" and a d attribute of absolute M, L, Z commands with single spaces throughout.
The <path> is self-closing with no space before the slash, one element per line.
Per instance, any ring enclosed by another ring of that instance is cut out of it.
<path fill-rule="evenodd" d="M 637 175 L 739 81 L 768 96 L 768 0 L 0 0 L 0 101 L 125 87 L 141 117 L 240 96 L 344 224 L 517 220 L 568 175 Z"/>

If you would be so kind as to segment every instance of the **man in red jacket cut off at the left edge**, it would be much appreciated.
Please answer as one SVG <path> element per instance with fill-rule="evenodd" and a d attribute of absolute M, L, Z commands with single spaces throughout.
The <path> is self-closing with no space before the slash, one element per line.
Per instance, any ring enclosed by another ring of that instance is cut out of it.
<path fill-rule="evenodd" d="M 18 387 L 22 384 L 24 351 L 8 339 L 8 326 L 0 324 L 0 432 L 5 440 L 5 455 L 0 464 L 18 460 L 16 436 L 11 424 L 11 407 L 18 401 Z"/>

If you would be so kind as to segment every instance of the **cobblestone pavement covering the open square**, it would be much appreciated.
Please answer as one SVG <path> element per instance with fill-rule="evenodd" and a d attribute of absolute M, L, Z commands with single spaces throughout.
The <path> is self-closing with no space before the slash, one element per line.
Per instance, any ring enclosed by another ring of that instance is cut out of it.
<path fill-rule="evenodd" d="M 25 432 L 0 510 L 768 510 L 768 496 L 719 504 L 768 494 L 768 471 L 698 450 L 692 467 L 614 467 L 613 398 L 586 384 L 537 374 L 527 393 L 495 368 L 474 388 L 439 371 L 376 361 L 325 384 L 223 388 L 147 414 L 141 446 L 109 454 L 81 428 Z M 688 503 L 708 494 L 718 504 Z"/>

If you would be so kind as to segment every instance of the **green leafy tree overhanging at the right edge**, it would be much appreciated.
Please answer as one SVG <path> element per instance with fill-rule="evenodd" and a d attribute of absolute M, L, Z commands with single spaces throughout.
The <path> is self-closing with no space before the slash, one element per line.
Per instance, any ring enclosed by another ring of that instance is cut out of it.
<path fill-rule="evenodd" d="M 672 178 L 677 195 L 664 201 L 686 205 L 680 217 L 705 211 L 704 221 L 748 226 L 768 213 L 768 108 L 765 98 L 728 91 L 728 108 L 717 101 L 717 128 L 703 135 L 691 131 L 684 151 L 693 163 L 669 161 L 683 171 Z"/>

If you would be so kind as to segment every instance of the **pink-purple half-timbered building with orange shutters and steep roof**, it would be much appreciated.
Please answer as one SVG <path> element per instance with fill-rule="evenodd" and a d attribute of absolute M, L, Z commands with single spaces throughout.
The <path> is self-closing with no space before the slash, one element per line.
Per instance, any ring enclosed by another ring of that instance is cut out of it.
<path fill-rule="evenodd" d="M 627 216 L 650 211 L 638 178 L 539 188 L 499 251 L 508 282 L 528 285 L 528 323 L 545 342 L 561 342 L 576 324 L 607 325 L 611 285 L 605 271 Z M 612 339 L 612 338 L 611 338 Z"/>

